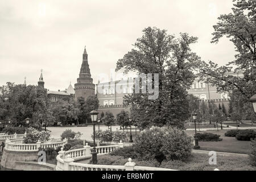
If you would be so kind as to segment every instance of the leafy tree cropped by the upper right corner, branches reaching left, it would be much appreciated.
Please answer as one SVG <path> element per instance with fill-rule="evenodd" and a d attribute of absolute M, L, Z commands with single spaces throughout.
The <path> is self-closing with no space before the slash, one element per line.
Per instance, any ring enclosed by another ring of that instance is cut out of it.
<path fill-rule="evenodd" d="M 233 92 L 237 90 L 247 100 L 256 93 L 256 3 L 251 0 L 234 0 L 233 13 L 220 15 L 218 23 L 213 26 L 212 43 L 226 36 L 236 47 L 235 60 L 219 67 L 209 61 L 197 61 L 196 68 L 201 77 L 217 86 L 219 91 Z M 242 77 L 226 74 L 234 69 L 242 73 Z"/>

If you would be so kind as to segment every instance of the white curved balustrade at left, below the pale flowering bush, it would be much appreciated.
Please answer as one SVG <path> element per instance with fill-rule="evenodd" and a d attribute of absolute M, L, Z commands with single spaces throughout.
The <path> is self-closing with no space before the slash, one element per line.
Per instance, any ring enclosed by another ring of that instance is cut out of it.
<path fill-rule="evenodd" d="M 15 140 L 10 140 L 6 139 L 5 141 L 5 148 L 8 151 L 20 151 L 20 152 L 26 152 L 26 151 L 38 151 L 38 149 L 41 148 L 57 148 L 59 146 L 64 146 L 66 143 L 68 143 L 67 139 L 64 139 L 61 142 L 52 142 L 52 143 L 41 143 L 40 141 L 36 143 L 23 143 L 23 139 L 15 139 Z"/>

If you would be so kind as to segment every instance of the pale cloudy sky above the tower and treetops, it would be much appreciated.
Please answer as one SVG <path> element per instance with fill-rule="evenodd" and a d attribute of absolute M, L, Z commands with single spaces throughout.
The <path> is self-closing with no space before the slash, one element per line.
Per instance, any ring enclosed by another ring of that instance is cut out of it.
<path fill-rule="evenodd" d="M 0 1 L 0 85 L 7 81 L 37 84 L 43 69 L 45 87 L 65 89 L 76 83 L 84 46 L 93 82 L 115 69 L 143 28 L 155 26 L 199 41 L 192 49 L 203 60 L 226 64 L 234 46 L 222 38 L 211 44 L 213 25 L 231 12 L 232 0 L 49 0 Z"/>

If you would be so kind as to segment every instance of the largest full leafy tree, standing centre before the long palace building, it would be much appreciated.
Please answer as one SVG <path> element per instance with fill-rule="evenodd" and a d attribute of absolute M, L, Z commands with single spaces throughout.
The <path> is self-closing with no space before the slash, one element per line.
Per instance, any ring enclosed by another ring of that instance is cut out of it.
<path fill-rule="evenodd" d="M 156 27 L 145 28 L 142 32 L 135 48 L 117 61 L 116 71 L 123 69 L 124 73 L 134 71 L 146 75 L 158 73 L 159 86 L 155 86 L 159 89 L 159 97 L 148 100 L 148 92 L 133 93 L 125 96 L 123 104 L 131 106 L 131 114 L 142 129 L 152 125 L 182 128 L 189 117 L 185 89 L 195 78 L 190 61 L 199 59 L 190 46 L 197 38 L 186 33 L 175 38 Z"/>

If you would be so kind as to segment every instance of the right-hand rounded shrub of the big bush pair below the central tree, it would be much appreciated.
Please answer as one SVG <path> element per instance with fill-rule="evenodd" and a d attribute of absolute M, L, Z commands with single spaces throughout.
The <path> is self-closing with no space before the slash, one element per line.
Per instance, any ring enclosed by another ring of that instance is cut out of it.
<path fill-rule="evenodd" d="M 183 130 L 171 129 L 163 135 L 162 148 L 167 160 L 186 160 L 191 156 L 192 138 L 188 137 Z"/>

